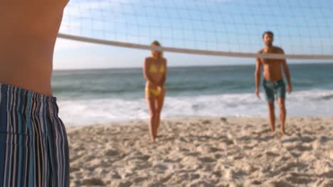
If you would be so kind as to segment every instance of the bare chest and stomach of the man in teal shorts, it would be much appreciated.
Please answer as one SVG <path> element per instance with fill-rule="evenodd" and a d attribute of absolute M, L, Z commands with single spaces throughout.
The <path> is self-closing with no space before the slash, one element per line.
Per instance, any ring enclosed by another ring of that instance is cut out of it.
<path fill-rule="evenodd" d="M 277 53 L 283 54 L 283 50 L 279 47 L 271 47 L 269 50 L 260 50 L 258 53 Z M 261 65 L 263 65 L 263 77 L 268 81 L 282 80 L 282 63 L 285 60 L 280 59 L 258 59 Z"/>

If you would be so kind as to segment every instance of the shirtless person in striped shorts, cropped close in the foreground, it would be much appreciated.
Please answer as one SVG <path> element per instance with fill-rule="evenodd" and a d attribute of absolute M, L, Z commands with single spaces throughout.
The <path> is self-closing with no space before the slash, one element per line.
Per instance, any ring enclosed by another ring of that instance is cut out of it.
<path fill-rule="evenodd" d="M 0 186 L 69 186 L 68 140 L 51 90 L 68 0 L 0 0 Z"/>

